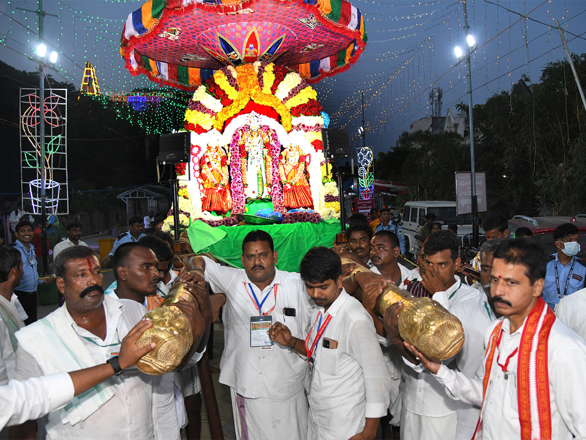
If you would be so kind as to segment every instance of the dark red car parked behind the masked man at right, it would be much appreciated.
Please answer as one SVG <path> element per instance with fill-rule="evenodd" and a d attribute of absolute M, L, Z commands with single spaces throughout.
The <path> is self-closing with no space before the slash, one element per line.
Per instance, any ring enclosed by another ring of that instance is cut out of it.
<path fill-rule="evenodd" d="M 517 228 L 526 226 L 533 232 L 533 239 L 543 246 L 547 255 L 551 255 L 557 252 L 553 231 L 564 223 L 573 223 L 578 226 L 578 241 L 583 243 L 578 258 L 586 258 L 586 214 L 578 214 L 573 217 L 515 215 L 509 220 L 509 236 L 514 237 Z"/>

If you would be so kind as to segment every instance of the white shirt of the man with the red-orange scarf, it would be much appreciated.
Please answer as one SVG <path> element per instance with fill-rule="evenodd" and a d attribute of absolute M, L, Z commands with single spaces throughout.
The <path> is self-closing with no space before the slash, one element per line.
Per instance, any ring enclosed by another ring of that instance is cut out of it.
<path fill-rule="evenodd" d="M 485 346 L 490 334 L 499 321 L 486 330 Z M 520 438 L 519 404 L 517 401 L 517 354 L 510 357 L 507 371 L 513 372 L 506 378 L 503 364 L 515 348 L 519 347 L 525 323 L 510 334 L 510 321 L 505 318 L 502 326 L 502 340 L 495 350 L 495 360 L 490 370 L 489 385 L 486 390 L 482 414 L 482 438 L 501 440 Z M 551 408 L 551 438 L 586 438 L 586 344 L 561 320 L 557 319 L 551 327 L 547 346 L 547 363 Z M 482 404 L 482 379 L 484 365 L 476 371 L 473 378 L 440 367 L 434 376 L 445 385 L 448 395 L 475 405 Z"/>

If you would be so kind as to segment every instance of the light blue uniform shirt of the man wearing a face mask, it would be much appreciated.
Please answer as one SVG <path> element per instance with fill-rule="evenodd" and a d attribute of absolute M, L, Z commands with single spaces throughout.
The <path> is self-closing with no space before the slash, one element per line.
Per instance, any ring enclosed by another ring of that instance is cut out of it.
<path fill-rule="evenodd" d="M 558 285 L 560 287 L 561 297 L 570 295 L 570 293 L 582 289 L 582 287 L 584 287 L 584 278 L 586 277 L 586 268 L 576 257 L 573 257 L 567 265 L 563 266 L 557 258 L 557 253 L 552 254 L 552 256 L 554 255 L 556 258 L 547 263 L 545 285 L 543 286 L 543 300 L 551 307 L 551 309 L 554 309 L 560 301 L 560 297 L 557 296 L 556 269 L 554 268 L 554 265 L 557 265 Z M 574 268 L 572 269 L 573 263 Z M 567 281 L 568 276 L 570 277 L 570 281 L 568 282 L 568 290 L 564 294 L 565 282 Z"/>

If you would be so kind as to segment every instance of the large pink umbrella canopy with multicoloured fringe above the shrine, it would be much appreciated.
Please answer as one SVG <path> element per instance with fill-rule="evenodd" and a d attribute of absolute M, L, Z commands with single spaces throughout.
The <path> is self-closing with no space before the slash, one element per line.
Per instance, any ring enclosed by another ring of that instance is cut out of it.
<path fill-rule="evenodd" d="M 132 75 L 195 90 L 214 70 L 257 61 L 316 83 L 365 45 L 363 17 L 344 0 L 151 0 L 128 16 L 121 54 Z"/>

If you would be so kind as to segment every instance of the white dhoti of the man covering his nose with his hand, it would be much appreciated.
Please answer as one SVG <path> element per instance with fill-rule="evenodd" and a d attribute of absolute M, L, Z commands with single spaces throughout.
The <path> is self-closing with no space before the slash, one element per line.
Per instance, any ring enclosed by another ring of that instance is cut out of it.
<path fill-rule="evenodd" d="M 401 408 L 401 439 L 444 440 L 456 437 L 458 415 L 456 412 L 439 417 L 419 415 Z"/>

